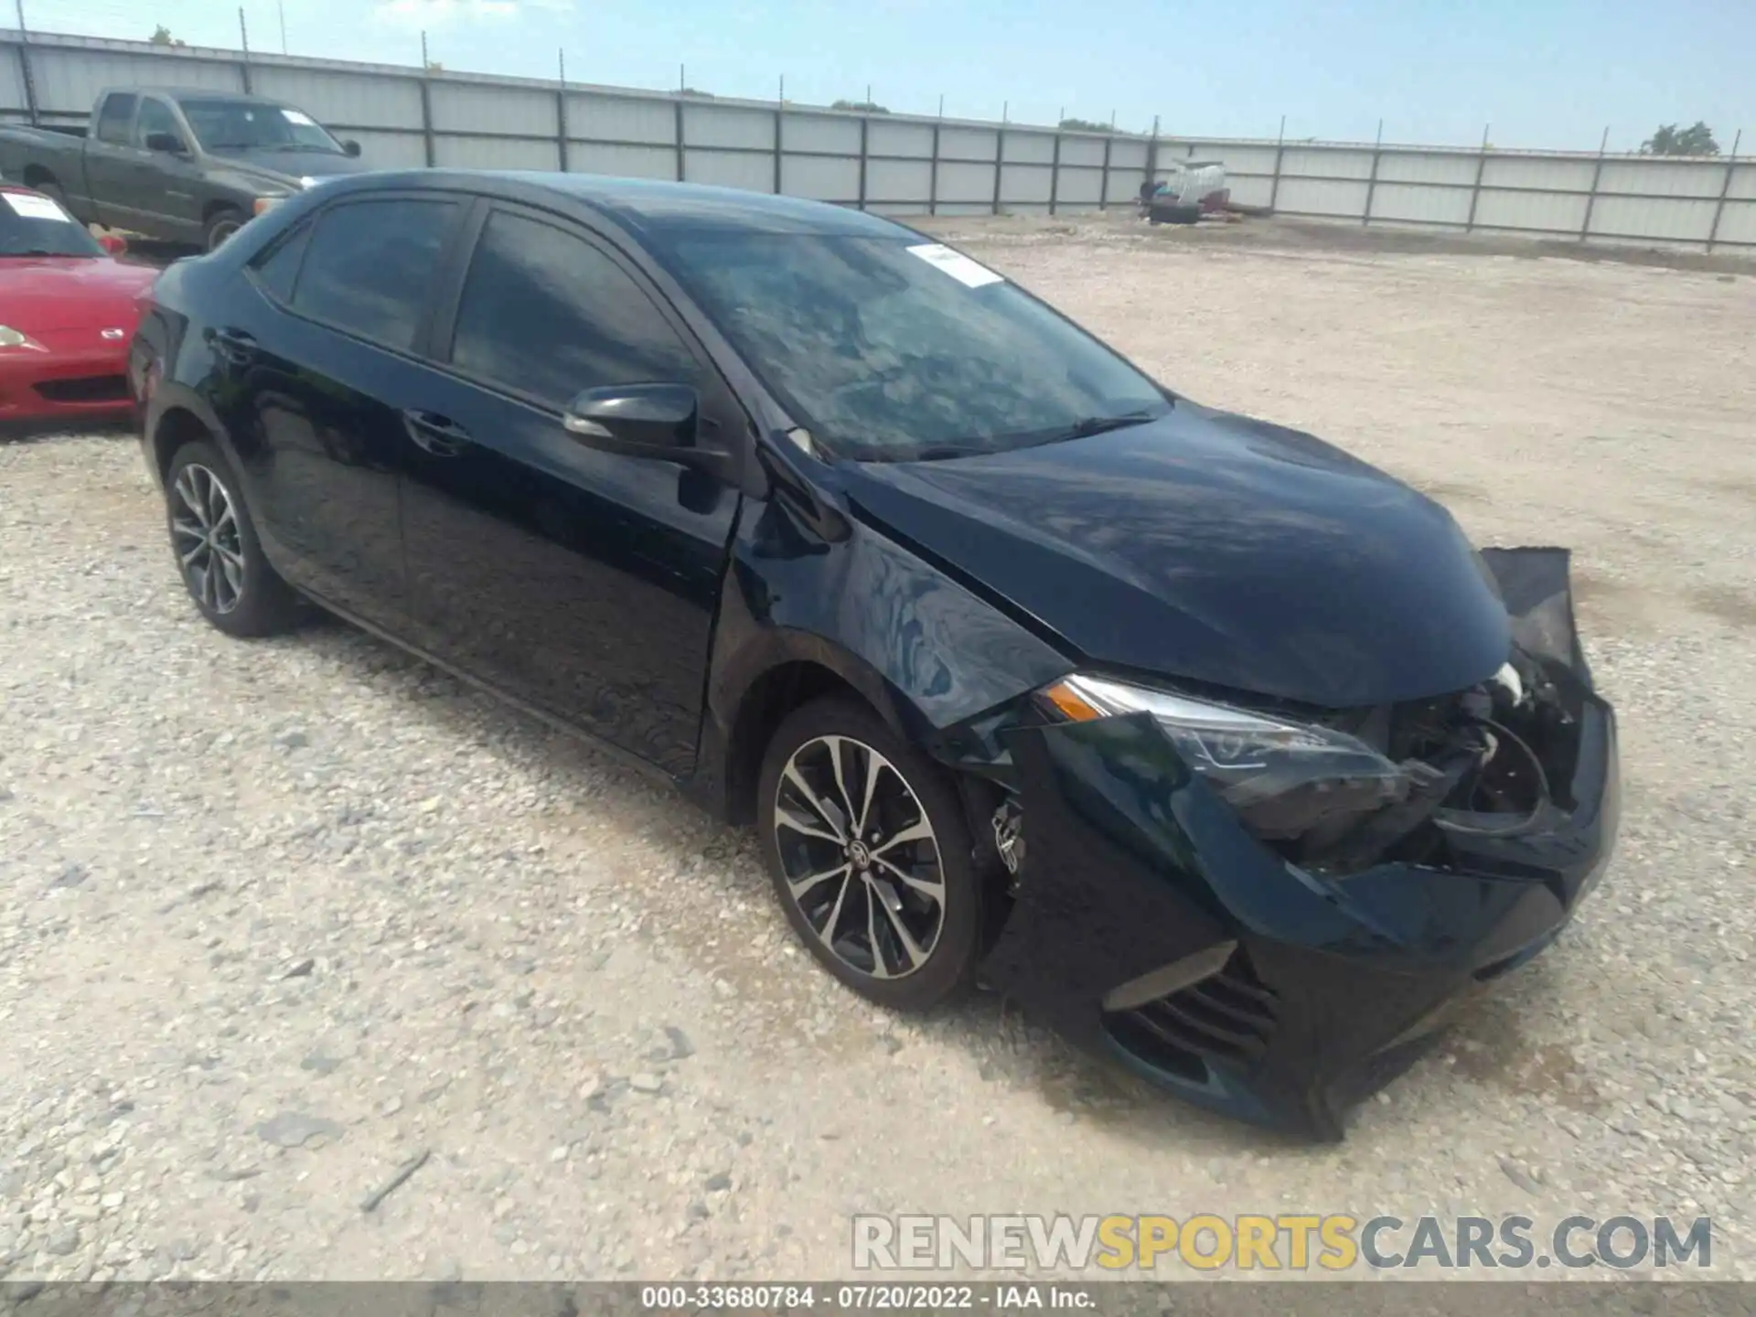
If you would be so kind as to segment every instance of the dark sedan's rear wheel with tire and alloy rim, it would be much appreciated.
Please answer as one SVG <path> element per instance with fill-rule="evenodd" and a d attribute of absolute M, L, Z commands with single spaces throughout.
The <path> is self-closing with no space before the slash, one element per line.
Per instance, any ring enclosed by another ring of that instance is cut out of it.
<path fill-rule="evenodd" d="M 211 439 L 184 444 L 165 474 L 165 525 L 177 574 L 227 636 L 274 636 L 299 620 L 299 597 L 269 564 L 232 464 Z"/>

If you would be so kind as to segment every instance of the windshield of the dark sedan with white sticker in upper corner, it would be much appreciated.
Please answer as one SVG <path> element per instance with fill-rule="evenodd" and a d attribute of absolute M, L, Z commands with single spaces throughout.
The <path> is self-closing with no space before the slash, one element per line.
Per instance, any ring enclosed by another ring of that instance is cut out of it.
<path fill-rule="evenodd" d="M 996 453 L 1169 409 L 1083 330 L 925 239 L 683 232 L 666 246 L 732 346 L 841 457 Z"/>

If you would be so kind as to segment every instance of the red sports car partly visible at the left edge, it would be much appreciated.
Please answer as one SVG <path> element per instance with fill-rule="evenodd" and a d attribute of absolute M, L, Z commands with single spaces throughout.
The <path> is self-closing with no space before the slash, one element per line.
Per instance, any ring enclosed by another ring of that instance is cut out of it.
<path fill-rule="evenodd" d="M 123 249 L 0 183 L 0 430 L 132 414 L 128 344 L 158 270 L 123 265 Z"/>

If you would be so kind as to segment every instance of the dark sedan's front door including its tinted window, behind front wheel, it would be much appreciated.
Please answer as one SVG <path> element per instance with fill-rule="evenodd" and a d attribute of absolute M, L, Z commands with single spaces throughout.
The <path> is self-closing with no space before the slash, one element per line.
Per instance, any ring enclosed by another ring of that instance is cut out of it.
<path fill-rule="evenodd" d="M 748 420 L 646 279 L 594 234 L 483 205 L 411 418 L 404 539 L 423 643 L 671 773 L 694 766 L 738 492 L 585 448 L 585 388 L 688 383 L 702 441 Z"/>

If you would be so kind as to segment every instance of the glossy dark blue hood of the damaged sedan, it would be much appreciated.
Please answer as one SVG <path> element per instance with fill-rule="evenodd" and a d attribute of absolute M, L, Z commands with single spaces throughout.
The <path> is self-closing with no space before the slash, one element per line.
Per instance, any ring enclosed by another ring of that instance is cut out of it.
<path fill-rule="evenodd" d="M 1178 400 L 1090 439 L 845 471 L 862 516 L 1092 664 L 1356 708 L 1461 690 L 1510 651 L 1452 516 L 1298 430 Z"/>

